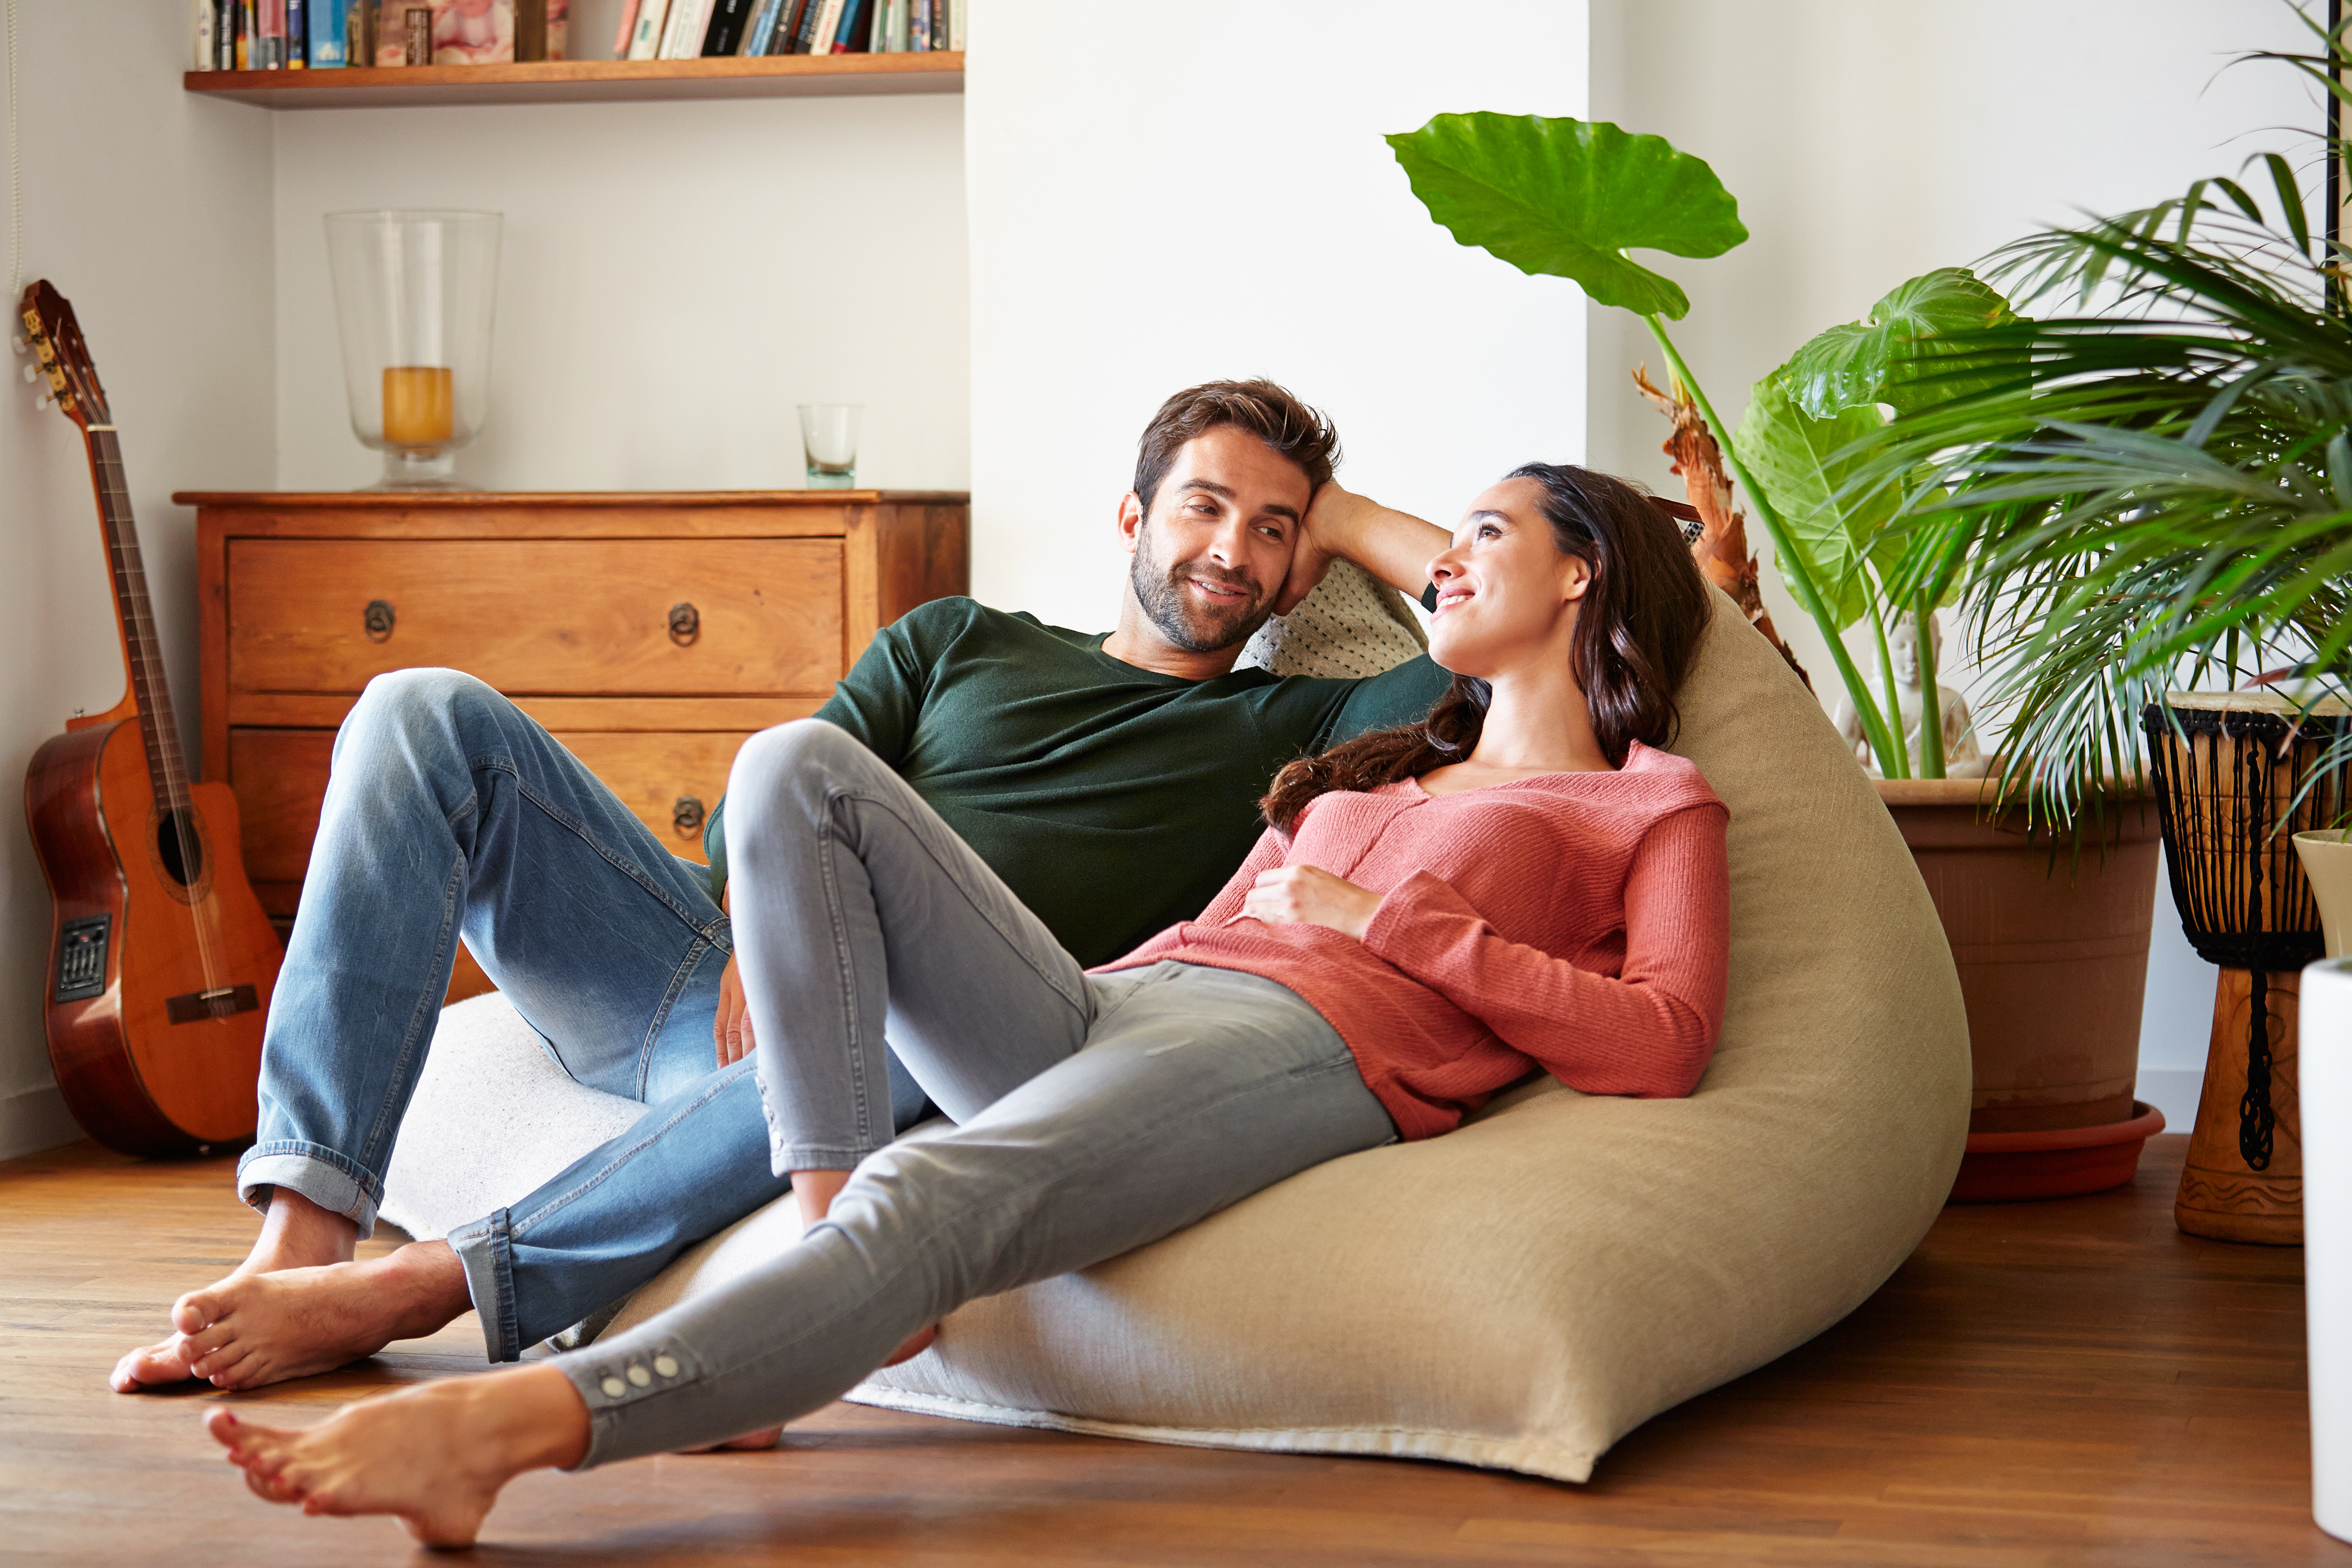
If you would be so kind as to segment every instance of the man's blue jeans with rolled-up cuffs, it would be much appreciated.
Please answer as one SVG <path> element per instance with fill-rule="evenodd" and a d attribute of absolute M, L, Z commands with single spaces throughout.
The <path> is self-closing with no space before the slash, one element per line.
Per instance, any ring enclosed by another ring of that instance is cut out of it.
<path fill-rule="evenodd" d="M 569 1328 L 786 1190 L 753 1060 L 715 1067 L 731 950 L 701 865 L 503 696 L 456 670 L 367 684 L 334 741 L 301 914 L 238 1164 L 369 1234 L 459 936 L 574 1079 L 647 1105 L 626 1133 L 449 1232 L 492 1359 Z M 884 1067 L 884 1114 L 922 1093 Z M 891 1093 L 896 1091 L 896 1093 Z"/>

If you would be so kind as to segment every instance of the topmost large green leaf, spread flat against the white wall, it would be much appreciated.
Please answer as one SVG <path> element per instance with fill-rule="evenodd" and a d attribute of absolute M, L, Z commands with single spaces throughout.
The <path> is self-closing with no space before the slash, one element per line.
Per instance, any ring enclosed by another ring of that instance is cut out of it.
<path fill-rule="evenodd" d="M 1722 256 L 1748 237 L 1740 205 L 1700 158 L 1665 136 L 1592 120 L 1437 115 L 1388 139 L 1439 223 L 1522 273 L 1573 277 L 1604 306 L 1682 317 L 1672 277 L 1628 247 Z"/>

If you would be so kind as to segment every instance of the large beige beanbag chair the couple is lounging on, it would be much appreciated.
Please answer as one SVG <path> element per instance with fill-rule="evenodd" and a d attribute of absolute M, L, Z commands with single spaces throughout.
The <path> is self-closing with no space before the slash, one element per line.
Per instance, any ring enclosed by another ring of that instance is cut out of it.
<path fill-rule="evenodd" d="M 1952 957 L 1877 792 L 1729 599 L 1682 710 L 1675 750 L 1731 806 L 1731 994 L 1696 1095 L 1526 1084 L 1451 1135 L 1331 1161 L 1127 1258 L 971 1302 L 851 1399 L 1583 1481 L 1649 1415 L 1860 1305 L 1959 1166 Z M 616 1321 L 795 1232 L 774 1204 Z"/>

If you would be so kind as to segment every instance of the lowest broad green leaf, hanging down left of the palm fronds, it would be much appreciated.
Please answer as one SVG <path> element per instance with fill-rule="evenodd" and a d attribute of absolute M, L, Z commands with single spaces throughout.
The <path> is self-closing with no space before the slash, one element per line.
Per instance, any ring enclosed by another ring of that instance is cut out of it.
<path fill-rule="evenodd" d="M 1886 531 L 1900 503 L 1898 491 L 1882 484 L 1860 498 L 1846 494 L 1846 482 L 1863 456 L 1844 449 L 1877 428 L 1875 407 L 1813 418 L 1790 400 L 1778 371 L 1757 381 L 1748 414 L 1740 416 L 1740 461 L 1778 508 L 1797 548 L 1811 559 L 1813 581 L 1830 602 L 1839 630 L 1870 609 L 1875 588 L 1863 562 L 1886 574 L 1900 555 L 1896 536 Z M 1778 564 L 1780 576 L 1790 578 L 1790 562 Z"/>

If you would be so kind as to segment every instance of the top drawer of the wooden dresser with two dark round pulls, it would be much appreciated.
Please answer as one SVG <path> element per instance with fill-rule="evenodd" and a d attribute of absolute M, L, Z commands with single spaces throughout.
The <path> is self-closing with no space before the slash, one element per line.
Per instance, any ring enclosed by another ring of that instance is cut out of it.
<path fill-rule="evenodd" d="M 230 696 L 409 665 L 510 696 L 818 693 L 844 668 L 840 538 L 233 538 L 226 578 Z"/>

